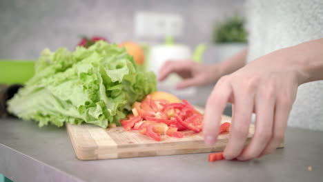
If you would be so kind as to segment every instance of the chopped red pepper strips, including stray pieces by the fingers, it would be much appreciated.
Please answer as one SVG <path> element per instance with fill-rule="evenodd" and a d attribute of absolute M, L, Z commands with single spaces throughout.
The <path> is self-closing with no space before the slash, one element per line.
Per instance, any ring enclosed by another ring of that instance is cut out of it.
<path fill-rule="evenodd" d="M 133 104 L 133 114 L 121 121 L 125 130 L 139 130 L 155 141 L 161 141 L 161 135 L 182 138 L 182 130 L 202 132 L 203 115 L 193 108 L 186 100 L 182 103 L 170 103 L 164 99 L 151 99 L 150 95 L 144 101 Z M 228 132 L 231 123 L 222 123 L 219 133 Z M 224 159 L 222 152 L 210 154 L 208 161 Z"/>

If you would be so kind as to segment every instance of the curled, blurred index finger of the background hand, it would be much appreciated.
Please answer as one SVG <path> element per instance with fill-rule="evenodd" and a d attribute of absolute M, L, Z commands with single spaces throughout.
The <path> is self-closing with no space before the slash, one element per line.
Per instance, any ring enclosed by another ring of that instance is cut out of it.
<path fill-rule="evenodd" d="M 180 70 L 190 70 L 193 68 L 192 61 L 166 61 L 159 69 L 158 80 L 163 81 L 172 72 L 179 72 Z"/>

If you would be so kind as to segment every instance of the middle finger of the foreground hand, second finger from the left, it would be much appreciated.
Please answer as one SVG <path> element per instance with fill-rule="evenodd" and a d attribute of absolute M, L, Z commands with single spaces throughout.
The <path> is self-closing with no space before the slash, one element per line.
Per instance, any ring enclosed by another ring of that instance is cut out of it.
<path fill-rule="evenodd" d="M 253 94 L 241 88 L 234 93 L 234 110 L 228 144 L 224 150 L 225 159 L 235 159 L 242 152 L 246 142 L 251 114 L 253 112 Z"/>

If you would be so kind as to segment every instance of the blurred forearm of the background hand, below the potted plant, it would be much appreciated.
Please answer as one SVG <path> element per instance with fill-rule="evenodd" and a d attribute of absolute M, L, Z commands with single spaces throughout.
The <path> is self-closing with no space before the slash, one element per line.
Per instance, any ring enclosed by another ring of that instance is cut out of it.
<path fill-rule="evenodd" d="M 231 74 L 232 72 L 235 72 L 236 70 L 244 67 L 244 65 L 246 65 L 247 54 L 248 50 L 245 49 L 238 54 L 235 54 L 233 57 L 227 59 L 226 61 L 218 63 L 218 66 L 220 68 L 219 70 L 221 71 L 221 76 Z"/>

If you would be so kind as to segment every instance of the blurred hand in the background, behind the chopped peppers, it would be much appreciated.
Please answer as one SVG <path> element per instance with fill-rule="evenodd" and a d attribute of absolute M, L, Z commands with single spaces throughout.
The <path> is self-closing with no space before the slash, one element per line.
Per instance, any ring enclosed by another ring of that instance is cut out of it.
<path fill-rule="evenodd" d="M 170 73 L 176 73 L 183 80 L 177 83 L 177 88 L 188 88 L 195 85 L 215 83 L 222 75 L 218 64 L 204 65 L 190 60 L 166 61 L 159 70 L 159 81 L 163 81 Z"/>

